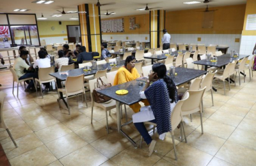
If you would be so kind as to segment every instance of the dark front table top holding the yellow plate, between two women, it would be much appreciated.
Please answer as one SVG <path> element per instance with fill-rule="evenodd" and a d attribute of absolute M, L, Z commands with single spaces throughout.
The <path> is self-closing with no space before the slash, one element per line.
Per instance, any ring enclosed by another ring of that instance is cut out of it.
<path fill-rule="evenodd" d="M 173 82 L 176 86 L 179 86 L 180 84 L 188 82 L 189 80 L 195 79 L 196 77 L 207 73 L 204 70 L 195 70 L 189 68 L 175 68 L 175 72 L 177 73 L 177 75 L 175 78 L 173 78 Z M 118 102 L 125 103 L 126 105 L 132 105 L 141 101 L 140 91 L 145 86 L 145 83 L 143 83 L 142 86 L 139 86 L 138 83 L 139 80 L 132 80 L 124 84 L 102 89 L 98 91 L 98 93 L 104 94 L 105 96 L 108 96 L 109 98 L 112 98 L 113 100 L 116 100 Z M 116 94 L 116 91 L 120 89 L 127 89 L 129 93 L 125 95 Z"/>

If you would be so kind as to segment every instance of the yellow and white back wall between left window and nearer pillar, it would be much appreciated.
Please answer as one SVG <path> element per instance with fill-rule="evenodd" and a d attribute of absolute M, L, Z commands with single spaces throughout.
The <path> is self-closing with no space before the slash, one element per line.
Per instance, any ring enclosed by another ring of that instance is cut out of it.
<path fill-rule="evenodd" d="M 67 25 L 79 25 L 78 21 L 38 21 L 38 31 L 40 40 L 45 40 L 46 44 L 50 43 L 64 43 L 68 41 Z M 54 30 L 51 29 L 54 27 Z"/>

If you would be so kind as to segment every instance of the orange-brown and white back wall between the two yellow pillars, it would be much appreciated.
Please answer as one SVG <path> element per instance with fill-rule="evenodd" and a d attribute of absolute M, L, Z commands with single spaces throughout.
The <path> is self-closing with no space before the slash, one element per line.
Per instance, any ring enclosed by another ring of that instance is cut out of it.
<path fill-rule="evenodd" d="M 129 26 L 130 26 L 129 20 L 131 17 L 135 17 L 135 24 L 139 24 L 140 28 L 136 28 L 134 30 L 129 29 Z M 102 40 L 149 41 L 149 14 L 131 15 L 127 17 L 115 17 L 111 19 L 124 19 L 124 32 L 123 33 L 102 33 Z M 111 20 L 111 19 L 102 19 L 102 20 Z"/>

